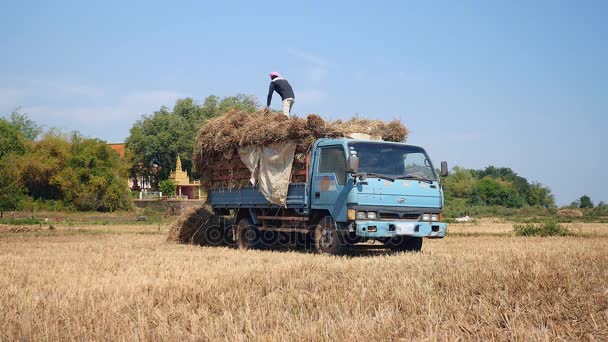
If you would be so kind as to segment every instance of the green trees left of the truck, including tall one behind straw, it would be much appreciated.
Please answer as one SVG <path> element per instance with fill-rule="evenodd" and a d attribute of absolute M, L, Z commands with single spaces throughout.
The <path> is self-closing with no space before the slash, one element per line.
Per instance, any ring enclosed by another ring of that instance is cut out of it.
<path fill-rule="evenodd" d="M 232 109 L 255 111 L 257 101 L 209 96 L 202 104 L 185 98 L 173 109 L 163 106 L 133 124 L 123 158 L 103 140 L 43 130 L 15 110 L 0 118 L 0 216 L 24 209 L 131 210 L 128 177 L 154 173 L 155 180 L 167 179 L 178 155 L 190 170 L 198 128 Z"/>

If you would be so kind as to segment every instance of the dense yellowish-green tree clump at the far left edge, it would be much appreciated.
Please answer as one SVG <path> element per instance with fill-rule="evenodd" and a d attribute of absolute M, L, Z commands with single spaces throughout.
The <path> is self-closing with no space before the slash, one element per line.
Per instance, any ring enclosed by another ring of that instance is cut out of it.
<path fill-rule="evenodd" d="M 18 111 L 0 118 L 0 137 L 0 214 L 35 207 L 132 209 L 128 167 L 105 141 L 43 132 Z"/>

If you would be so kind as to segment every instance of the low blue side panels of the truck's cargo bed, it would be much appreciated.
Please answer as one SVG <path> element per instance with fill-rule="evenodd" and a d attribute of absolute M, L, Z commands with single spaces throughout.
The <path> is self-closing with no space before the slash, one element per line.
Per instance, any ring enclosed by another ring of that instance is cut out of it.
<path fill-rule="evenodd" d="M 307 203 L 308 183 L 290 183 L 287 191 L 287 209 L 304 209 Z M 240 189 L 211 189 L 209 202 L 214 209 L 279 208 L 264 198 L 257 187 Z"/>

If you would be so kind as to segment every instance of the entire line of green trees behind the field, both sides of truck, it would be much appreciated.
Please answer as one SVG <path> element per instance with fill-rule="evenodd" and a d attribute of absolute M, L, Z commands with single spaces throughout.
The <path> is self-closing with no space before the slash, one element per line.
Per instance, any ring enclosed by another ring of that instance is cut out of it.
<path fill-rule="evenodd" d="M 179 99 L 173 108 L 163 106 L 133 124 L 123 158 L 105 141 L 86 138 L 78 132 L 44 131 L 27 114 L 14 111 L 8 118 L 0 118 L 0 211 L 36 205 L 130 210 L 133 201 L 127 187 L 128 176 L 151 176 L 154 186 L 162 186 L 168 192 L 171 185 L 166 180 L 179 155 L 184 169 L 197 178 L 196 170 L 192 170 L 192 154 L 201 125 L 232 109 L 252 112 L 257 108 L 255 97 L 242 94 L 208 96 L 202 103 L 192 98 Z M 474 170 L 457 166 L 442 183 L 446 205 L 453 208 L 555 207 L 547 186 L 529 182 L 506 167 Z M 572 205 L 593 207 L 588 196 Z"/>

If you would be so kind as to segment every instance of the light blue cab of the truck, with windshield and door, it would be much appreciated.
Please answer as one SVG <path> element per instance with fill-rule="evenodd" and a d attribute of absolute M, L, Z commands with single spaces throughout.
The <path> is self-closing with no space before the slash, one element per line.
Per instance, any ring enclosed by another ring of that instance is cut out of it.
<path fill-rule="evenodd" d="M 445 235 L 443 190 L 423 148 L 321 139 L 313 152 L 310 207 L 327 210 L 351 238 L 416 251 L 422 247 L 421 238 Z"/>

